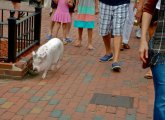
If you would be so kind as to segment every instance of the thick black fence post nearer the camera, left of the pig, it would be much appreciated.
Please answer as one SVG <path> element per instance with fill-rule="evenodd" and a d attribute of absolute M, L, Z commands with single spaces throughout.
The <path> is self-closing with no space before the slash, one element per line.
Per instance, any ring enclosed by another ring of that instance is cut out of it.
<path fill-rule="evenodd" d="M 10 11 L 10 18 L 8 18 L 8 62 L 16 61 L 17 25 L 13 12 Z"/>

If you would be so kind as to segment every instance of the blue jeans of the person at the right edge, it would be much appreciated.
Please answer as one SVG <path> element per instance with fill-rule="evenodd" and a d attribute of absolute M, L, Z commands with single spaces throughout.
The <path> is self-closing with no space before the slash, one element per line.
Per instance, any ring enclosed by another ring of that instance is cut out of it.
<path fill-rule="evenodd" d="M 154 87 L 154 119 L 165 120 L 165 60 L 151 67 Z"/>

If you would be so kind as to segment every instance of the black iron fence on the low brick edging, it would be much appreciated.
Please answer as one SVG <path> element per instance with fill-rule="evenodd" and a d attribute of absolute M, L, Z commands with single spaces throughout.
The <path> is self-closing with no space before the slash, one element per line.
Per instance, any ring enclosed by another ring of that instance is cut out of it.
<path fill-rule="evenodd" d="M 14 17 L 16 12 L 25 15 L 18 19 Z M 35 12 L 0 9 L 1 60 L 15 62 L 24 52 L 40 44 L 41 12 L 41 7 L 36 7 Z"/>

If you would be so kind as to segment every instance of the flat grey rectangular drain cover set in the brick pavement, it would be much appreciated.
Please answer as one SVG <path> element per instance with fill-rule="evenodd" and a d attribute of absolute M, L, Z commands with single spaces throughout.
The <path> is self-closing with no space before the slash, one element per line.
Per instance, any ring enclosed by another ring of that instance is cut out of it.
<path fill-rule="evenodd" d="M 97 105 L 133 108 L 133 97 L 94 93 L 90 103 Z"/>

